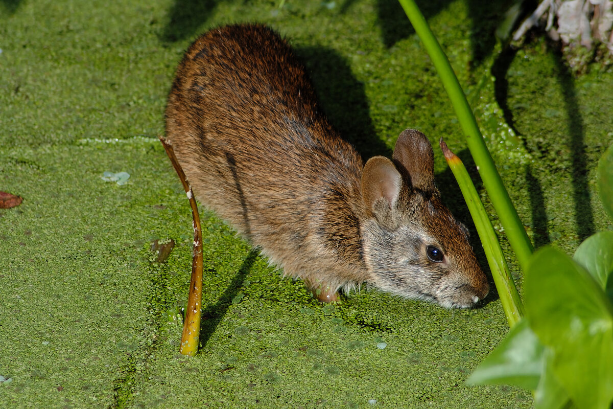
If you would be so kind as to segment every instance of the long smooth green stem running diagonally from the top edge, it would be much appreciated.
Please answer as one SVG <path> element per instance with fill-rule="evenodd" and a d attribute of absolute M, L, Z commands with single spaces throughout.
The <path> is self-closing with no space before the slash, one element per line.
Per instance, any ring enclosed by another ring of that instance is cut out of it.
<path fill-rule="evenodd" d="M 487 150 L 481 131 L 479 131 L 477 121 L 468 105 L 468 101 L 466 101 L 464 91 L 457 77 L 455 77 L 455 73 L 451 68 L 451 64 L 449 64 L 447 56 L 441 49 L 440 44 L 438 44 L 432 30 L 419 11 L 419 8 L 417 8 L 415 2 L 413 0 L 398 1 L 405 10 L 415 32 L 417 32 L 417 35 L 424 43 L 424 47 L 428 55 L 430 55 L 430 59 L 432 59 L 432 63 L 438 75 L 443 81 L 445 90 L 447 94 L 449 94 L 449 98 L 454 106 L 455 114 L 460 121 L 460 126 L 462 126 L 462 132 L 466 137 L 468 149 L 470 149 L 470 153 L 473 155 L 474 162 L 477 165 L 479 175 L 481 175 L 483 185 L 485 189 L 487 189 L 487 193 L 492 200 L 492 205 L 498 213 L 500 223 L 517 256 L 517 261 L 519 261 L 522 270 L 525 271 L 528 266 L 528 259 L 530 259 L 534 248 L 530 239 L 528 239 L 528 235 L 519 215 L 517 215 L 517 210 L 513 206 L 506 188 L 504 188 L 492 156 L 489 150 Z"/>

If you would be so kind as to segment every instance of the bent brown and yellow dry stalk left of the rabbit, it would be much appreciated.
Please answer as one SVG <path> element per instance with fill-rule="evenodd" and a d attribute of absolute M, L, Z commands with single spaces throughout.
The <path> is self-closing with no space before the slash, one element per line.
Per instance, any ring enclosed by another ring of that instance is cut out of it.
<path fill-rule="evenodd" d="M 160 142 L 166 150 L 166 154 L 172 162 L 172 166 L 177 171 L 185 193 L 188 195 L 189 205 L 192 209 L 192 218 L 194 222 L 194 251 L 192 258 L 192 276 L 189 284 L 188 305 L 185 309 L 185 321 L 183 321 L 183 335 L 181 335 L 181 346 L 179 352 L 183 355 L 194 356 L 198 352 L 200 340 L 200 312 L 202 308 L 202 229 L 200 229 L 200 216 L 198 215 L 198 207 L 196 199 L 192 192 L 191 186 L 181 169 L 181 165 L 177 161 L 177 156 L 172 149 L 170 142 L 167 142 L 164 137 L 159 136 Z"/>

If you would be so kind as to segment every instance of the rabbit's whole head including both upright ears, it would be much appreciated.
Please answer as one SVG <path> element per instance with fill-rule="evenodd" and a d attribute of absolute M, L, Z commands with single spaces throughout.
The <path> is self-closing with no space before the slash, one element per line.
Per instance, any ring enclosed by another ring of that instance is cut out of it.
<path fill-rule="evenodd" d="M 427 137 L 400 134 L 394 161 L 368 160 L 362 172 L 367 218 L 360 224 L 369 283 L 401 297 L 468 308 L 489 291 L 468 231 L 443 205 Z"/>

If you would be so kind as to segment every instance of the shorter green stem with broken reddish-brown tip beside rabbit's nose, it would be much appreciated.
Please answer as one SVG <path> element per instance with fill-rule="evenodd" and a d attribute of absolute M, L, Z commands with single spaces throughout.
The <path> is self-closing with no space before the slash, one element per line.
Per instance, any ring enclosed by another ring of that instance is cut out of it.
<path fill-rule="evenodd" d="M 466 205 L 468 205 L 468 210 L 470 210 L 470 214 L 473 216 L 474 226 L 477 228 L 481 238 L 487 263 L 490 266 L 490 270 L 492 270 L 492 277 L 498 289 L 498 296 L 500 297 L 504 315 L 506 315 L 509 327 L 512 328 L 524 316 L 524 304 L 522 304 L 515 282 L 509 272 L 509 266 L 507 266 L 506 259 L 504 259 L 504 254 L 498 242 L 498 236 L 492 227 L 492 222 L 487 216 L 487 212 L 485 212 L 485 207 L 483 207 L 483 203 L 479 198 L 477 189 L 474 188 L 473 181 L 470 179 L 466 167 L 464 167 L 460 158 L 447 148 L 443 138 L 440 140 L 440 146 L 447 164 L 449 164 L 449 168 L 460 186 Z"/>

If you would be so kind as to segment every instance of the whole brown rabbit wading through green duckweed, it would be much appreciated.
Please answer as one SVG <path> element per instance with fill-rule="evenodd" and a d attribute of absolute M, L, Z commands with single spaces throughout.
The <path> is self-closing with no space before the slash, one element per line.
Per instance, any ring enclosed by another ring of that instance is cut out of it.
<path fill-rule="evenodd" d="M 433 185 L 425 136 L 403 132 L 394 162 L 377 156 L 364 167 L 289 45 L 264 26 L 213 29 L 189 47 L 166 136 L 197 199 L 321 300 L 360 283 L 446 307 L 487 294 Z M 444 261 L 430 261 L 427 245 Z"/>

